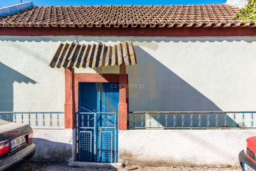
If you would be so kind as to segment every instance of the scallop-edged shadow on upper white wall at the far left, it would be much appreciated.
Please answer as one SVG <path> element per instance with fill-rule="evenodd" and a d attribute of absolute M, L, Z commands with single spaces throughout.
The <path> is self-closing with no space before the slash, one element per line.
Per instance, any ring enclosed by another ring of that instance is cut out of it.
<path fill-rule="evenodd" d="M 35 80 L 0 62 L 0 111 L 13 111 L 13 83 L 36 84 Z M 25 94 L 24 94 L 25 95 Z"/>

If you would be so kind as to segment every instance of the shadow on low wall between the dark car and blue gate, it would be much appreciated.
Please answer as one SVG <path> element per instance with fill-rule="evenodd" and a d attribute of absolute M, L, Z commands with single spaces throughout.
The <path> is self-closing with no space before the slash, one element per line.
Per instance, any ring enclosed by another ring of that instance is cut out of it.
<path fill-rule="evenodd" d="M 72 158 L 72 144 L 58 143 L 47 139 L 34 138 L 36 145 L 34 162 L 63 163 Z"/>

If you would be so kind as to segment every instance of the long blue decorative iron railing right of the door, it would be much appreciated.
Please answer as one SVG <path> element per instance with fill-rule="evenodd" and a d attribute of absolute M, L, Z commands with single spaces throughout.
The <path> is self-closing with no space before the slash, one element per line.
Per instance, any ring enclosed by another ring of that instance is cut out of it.
<path fill-rule="evenodd" d="M 132 111 L 129 129 L 255 129 L 256 111 Z"/>

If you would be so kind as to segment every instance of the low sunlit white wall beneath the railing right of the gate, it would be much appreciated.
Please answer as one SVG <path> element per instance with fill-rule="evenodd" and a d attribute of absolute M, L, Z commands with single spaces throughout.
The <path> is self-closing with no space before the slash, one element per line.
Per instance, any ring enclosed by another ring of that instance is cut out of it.
<path fill-rule="evenodd" d="M 127 130 L 118 132 L 118 162 L 146 166 L 239 165 L 255 130 Z"/>

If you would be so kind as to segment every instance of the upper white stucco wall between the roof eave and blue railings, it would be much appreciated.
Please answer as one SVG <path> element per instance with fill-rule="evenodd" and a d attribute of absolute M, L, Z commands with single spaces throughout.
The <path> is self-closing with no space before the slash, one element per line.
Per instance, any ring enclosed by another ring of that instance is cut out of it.
<path fill-rule="evenodd" d="M 130 111 L 256 110 L 256 37 L 1 36 L 0 111 L 63 111 L 64 70 L 48 65 L 65 41 L 133 42 Z"/>

